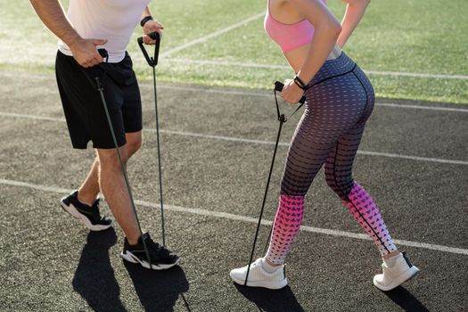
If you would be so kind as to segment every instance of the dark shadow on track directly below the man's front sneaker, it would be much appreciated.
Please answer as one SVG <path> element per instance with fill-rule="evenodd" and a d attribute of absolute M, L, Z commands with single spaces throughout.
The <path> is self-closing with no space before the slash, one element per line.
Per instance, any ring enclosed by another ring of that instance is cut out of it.
<path fill-rule="evenodd" d="M 145 311 L 174 311 L 179 297 L 185 309 L 192 311 L 184 296 L 189 284 L 182 267 L 155 271 L 127 261 L 124 261 L 124 265 Z"/>

